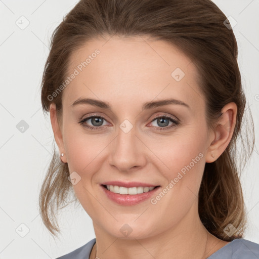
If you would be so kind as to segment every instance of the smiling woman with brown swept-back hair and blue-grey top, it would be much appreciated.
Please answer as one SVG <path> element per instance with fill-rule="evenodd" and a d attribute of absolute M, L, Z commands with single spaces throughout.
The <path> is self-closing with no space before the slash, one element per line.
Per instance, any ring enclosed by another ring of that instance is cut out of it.
<path fill-rule="evenodd" d="M 82 0 L 69 12 L 42 77 L 60 156 L 40 211 L 55 235 L 54 202 L 73 188 L 96 238 L 59 258 L 259 257 L 242 238 L 237 53 L 209 0 Z"/>

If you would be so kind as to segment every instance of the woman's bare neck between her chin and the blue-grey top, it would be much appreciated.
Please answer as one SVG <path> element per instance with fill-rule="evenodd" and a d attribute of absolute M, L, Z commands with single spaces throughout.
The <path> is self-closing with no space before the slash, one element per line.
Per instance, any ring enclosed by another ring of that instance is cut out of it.
<path fill-rule="evenodd" d="M 133 235 L 128 236 L 131 239 L 117 238 L 109 235 L 93 221 L 96 246 L 92 249 L 90 258 L 94 259 L 98 256 L 102 259 L 113 259 L 114 257 L 142 259 L 152 256 L 156 259 L 184 259 L 187 257 L 205 259 L 210 255 L 208 253 L 211 248 L 208 246 L 211 244 L 213 236 L 207 232 L 198 214 L 193 218 L 192 211 L 189 212 L 176 227 L 145 238 Z"/>

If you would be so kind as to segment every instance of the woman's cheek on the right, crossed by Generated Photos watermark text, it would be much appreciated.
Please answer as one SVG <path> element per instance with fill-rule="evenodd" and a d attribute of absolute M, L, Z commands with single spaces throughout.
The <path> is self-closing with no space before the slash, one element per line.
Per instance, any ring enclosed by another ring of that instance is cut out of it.
<path fill-rule="evenodd" d="M 205 134 L 205 133 L 204 133 Z M 160 145 L 156 145 L 157 157 L 160 162 L 157 162 L 158 170 L 166 178 L 168 186 L 171 190 L 168 197 L 174 202 L 188 202 L 188 197 L 198 195 L 201 178 L 205 165 L 204 147 L 206 143 L 204 138 L 197 136 L 205 136 L 203 132 L 195 133 L 195 129 L 189 131 L 189 134 L 174 136 L 171 141 L 166 141 Z M 158 144 L 158 143 L 157 143 Z M 157 160 L 157 158 L 156 158 Z"/>

